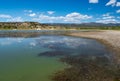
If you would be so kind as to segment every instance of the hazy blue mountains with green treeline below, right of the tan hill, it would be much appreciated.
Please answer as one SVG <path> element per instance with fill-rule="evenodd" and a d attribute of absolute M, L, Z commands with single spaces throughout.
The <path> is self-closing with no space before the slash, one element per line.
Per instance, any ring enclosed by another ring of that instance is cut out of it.
<path fill-rule="evenodd" d="M 81 23 L 81 24 L 75 24 L 75 23 L 46 23 L 49 26 L 57 26 L 65 29 L 120 29 L 120 23 L 109 23 L 109 24 L 103 24 L 103 23 Z"/>

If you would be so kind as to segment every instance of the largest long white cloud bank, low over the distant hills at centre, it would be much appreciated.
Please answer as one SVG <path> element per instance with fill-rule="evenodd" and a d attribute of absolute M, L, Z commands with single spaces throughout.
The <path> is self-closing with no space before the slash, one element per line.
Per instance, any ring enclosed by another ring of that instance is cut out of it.
<path fill-rule="evenodd" d="M 44 14 L 40 14 L 38 18 L 33 18 L 36 21 L 62 21 L 62 22 L 72 22 L 72 23 L 80 23 L 81 20 L 91 19 L 92 16 L 80 14 L 77 12 L 73 12 L 67 14 L 65 16 L 48 16 Z"/>

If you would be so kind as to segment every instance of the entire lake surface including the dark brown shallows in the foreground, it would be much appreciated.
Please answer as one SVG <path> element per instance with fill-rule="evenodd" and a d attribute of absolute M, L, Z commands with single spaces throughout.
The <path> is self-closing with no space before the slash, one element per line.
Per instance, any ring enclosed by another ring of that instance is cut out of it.
<path fill-rule="evenodd" d="M 103 44 L 65 33 L 0 31 L 0 81 L 119 81 Z"/>

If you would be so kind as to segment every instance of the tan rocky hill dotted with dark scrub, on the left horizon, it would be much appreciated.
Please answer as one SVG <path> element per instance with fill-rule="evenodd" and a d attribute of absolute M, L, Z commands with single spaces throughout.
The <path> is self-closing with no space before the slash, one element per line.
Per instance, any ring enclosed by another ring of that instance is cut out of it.
<path fill-rule="evenodd" d="M 0 29 L 42 29 L 47 27 L 47 24 L 38 22 L 0 22 Z"/>

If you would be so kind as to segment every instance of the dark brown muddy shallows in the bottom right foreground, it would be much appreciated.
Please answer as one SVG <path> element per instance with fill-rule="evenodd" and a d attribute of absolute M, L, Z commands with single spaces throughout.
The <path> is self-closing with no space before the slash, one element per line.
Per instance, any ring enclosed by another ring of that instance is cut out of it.
<path fill-rule="evenodd" d="M 56 72 L 53 81 L 120 81 L 120 67 L 108 58 L 85 55 L 67 56 L 60 59 L 70 67 Z"/>

